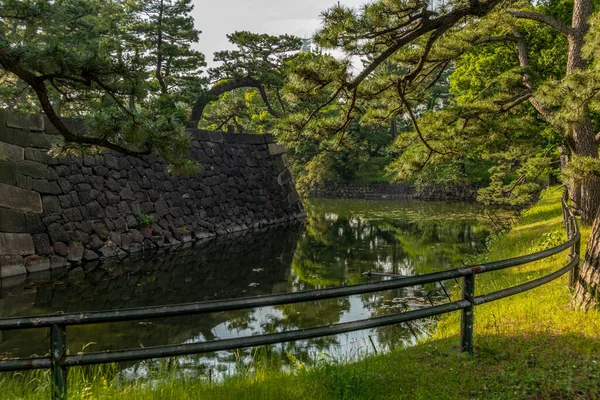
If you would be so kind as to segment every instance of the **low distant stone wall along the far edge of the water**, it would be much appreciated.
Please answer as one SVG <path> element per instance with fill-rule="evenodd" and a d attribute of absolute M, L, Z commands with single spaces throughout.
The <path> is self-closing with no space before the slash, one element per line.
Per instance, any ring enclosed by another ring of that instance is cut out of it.
<path fill-rule="evenodd" d="M 327 183 L 314 190 L 311 197 L 332 199 L 398 199 L 475 201 L 477 189 L 469 186 L 416 187 L 410 183 Z"/>

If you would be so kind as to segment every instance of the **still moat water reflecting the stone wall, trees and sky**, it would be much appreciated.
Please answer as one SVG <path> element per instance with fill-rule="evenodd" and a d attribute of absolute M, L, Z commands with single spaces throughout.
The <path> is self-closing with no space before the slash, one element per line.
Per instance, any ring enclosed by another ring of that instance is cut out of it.
<path fill-rule="evenodd" d="M 199 243 L 194 247 L 121 261 L 90 263 L 32 276 L 3 287 L 0 316 L 117 309 L 318 289 L 366 282 L 362 272 L 414 275 L 459 266 L 489 235 L 486 210 L 473 204 L 312 200 L 305 224 Z M 439 300 L 439 287 L 406 288 L 349 298 L 263 307 L 205 316 L 71 327 L 71 352 L 283 332 L 364 319 Z M 431 321 L 383 327 L 259 350 L 184 357 L 193 367 L 234 373 L 268 359 L 282 367 L 323 354 L 352 359 L 412 343 Z M 45 329 L 7 331 L 0 356 L 46 354 Z M 84 350 L 85 349 L 85 350 Z M 131 364 L 129 376 L 152 363 Z M 161 365 L 161 364 L 156 364 Z"/>

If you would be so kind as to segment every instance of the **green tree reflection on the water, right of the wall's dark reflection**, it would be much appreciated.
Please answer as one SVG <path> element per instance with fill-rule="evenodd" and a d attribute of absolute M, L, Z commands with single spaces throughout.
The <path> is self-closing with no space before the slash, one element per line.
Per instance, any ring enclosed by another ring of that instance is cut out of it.
<path fill-rule="evenodd" d="M 306 231 L 292 261 L 294 290 L 366 282 L 361 274 L 369 270 L 415 275 L 455 268 L 466 254 L 474 252 L 476 243 L 489 235 L 483 213 L 473 210 L 472 205 L 433 204 L 416 213 L 365 212 L 364 207 L 376 206 L 375 203 L 317 200 L 306 207 Z M 390 203 L 393 202 L 386 206 Z M 371 316 L 379 316 L 428 305 L 428 296 L 441 300 L 439 286 L 428 284 L 364 294 L 360 299 Z M 311 316 L 312 325 L 320 323 L 324 315 L 328 317 L 326 323 L 335 323 L 349 311 L 339 306 L 333 302 L 289 305 L 285 306 L 289 309 L 285 315 L 297 327 L 305 326 L 302 322 Z M 328 307 L 333 311 L 326 312 Z M 294 320 L 294 315 L 303 317 Z M 398 342 L 410 342 L 413 333 L 421 331 L 420 325 L 430 322 L 412 324 L 412 329 L 405 324 L 377 328 L 379 345 L 391 348 Z"/>

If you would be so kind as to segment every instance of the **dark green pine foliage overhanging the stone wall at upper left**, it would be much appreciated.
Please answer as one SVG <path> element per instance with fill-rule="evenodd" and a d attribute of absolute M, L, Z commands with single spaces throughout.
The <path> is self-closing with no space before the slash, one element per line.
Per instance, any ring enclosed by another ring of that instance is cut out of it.
<path fill-rule="evenodd" d="M 0 102 L 29 111 L 41 107 L 63 136 L 55 154 L 156 152 L 173 171 L 196 172 L 197 164 L 181 157 L 189 149 L 186 110 L 174 99 L 151 96 L 147 48 L 131 31 L 137 14 L 129 4 L 3 0 Z M 180 56 L 172 55 L 175 64 Z M 73 131 L 60 115 L 85 117 L 89 130 Z"/>

